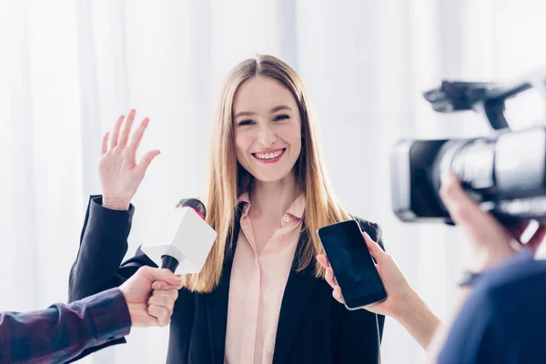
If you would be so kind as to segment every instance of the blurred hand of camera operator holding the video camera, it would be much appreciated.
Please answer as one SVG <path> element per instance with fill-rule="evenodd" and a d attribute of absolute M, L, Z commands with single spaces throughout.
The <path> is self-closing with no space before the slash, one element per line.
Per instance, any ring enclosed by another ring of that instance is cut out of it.
<path fill-rule="evenodd" d="M 527 224 L 502 227 L 465 193 L 459 178 L 452 173 L 443 176 L 440 197 L 453 222 L 470 238 L 476 253 L 476 260 L 470 267 L 472 271 L 480 272 L 516 254 Z M 536 251 L 545 233 L 546 226 L 541 225 L 525 245 Z"/>

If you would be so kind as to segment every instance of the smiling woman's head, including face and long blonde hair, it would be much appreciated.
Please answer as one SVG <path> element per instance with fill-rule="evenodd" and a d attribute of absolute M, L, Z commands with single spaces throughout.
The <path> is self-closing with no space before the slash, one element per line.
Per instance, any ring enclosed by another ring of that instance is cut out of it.
<path fill-rule="evenodd" d="M 203 270 L 187 276 L 185 287 L 197 292 L 211 292 L 220 282 L 238 218 L 234 207 L 240 194 L 250 191 L 253 177 L 277 181 L 267 186 L 274 187 L 271 190 L 278 189 L 278 182 L 286 182 L 280 187 L 298 184 L 307 200 L 308 232 L 351 218 L 329 189 L 320 154 L 319 120 L 302 79 L 288 64 L 275 56 L 258 55 L 233 67 L 221 88 L 213 122 L 207 223 L 218 236 Z M 283 155 L 276 157 L 275 149 Z M 298 269 L 313 265 L 322 251 L 317 234 L 309 233 L 298 252 Z M 323 277 L 324 268 L 316 267 L 316 277 Z"/>

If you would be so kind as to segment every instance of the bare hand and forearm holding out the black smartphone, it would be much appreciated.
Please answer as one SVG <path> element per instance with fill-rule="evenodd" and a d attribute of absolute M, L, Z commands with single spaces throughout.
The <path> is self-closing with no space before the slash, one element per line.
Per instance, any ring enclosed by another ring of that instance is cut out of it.
<path fill-rule="evenodd" d="M 375 241 L 369 238 L 368 234 L 364 233 L 363 236 L 371 255 L 377 261 L 379 276 L 387 290 L 386 300 L 370 305 L 366 309 L 398 320 L 420 343 L 420 346 L 426 349 L 434 331 L 440 326 L 440 319 L 430 311 L 417 292 L 410 287 L 394 258 L 383 251 Z M 341 289 L 336 284 L 328 258 L 324 255 L 319 255 L 317 258 L 320 264 L 326 268 L 325 278 L 331 288 L 334 288 L 332 293 L 334 298 L 343 303 Z"/>

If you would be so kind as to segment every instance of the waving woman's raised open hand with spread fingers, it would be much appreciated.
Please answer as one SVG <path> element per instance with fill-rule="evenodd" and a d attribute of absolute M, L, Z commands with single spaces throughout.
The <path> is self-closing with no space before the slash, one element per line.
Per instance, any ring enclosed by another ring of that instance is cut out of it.
<path fill-rule="evenodd" d="M 147 167 L 159 155 L 159 150 L 151 150 L 142 157 L 140 163 L 136 164 L 136 149 L 144 136 L 149 118 L 142 120 L 131 142 L 127 145 L 135 114 L 136 111 L 131 110 L 127 118 L 119 116 L 112 135 L 106 133 L 103 137 L 98 174 L 103 190 L 102 205 L 106 208 L 116 210 L 129 208 L 131 199 L 135 196 L 136 189 L 146 174 Z"/>

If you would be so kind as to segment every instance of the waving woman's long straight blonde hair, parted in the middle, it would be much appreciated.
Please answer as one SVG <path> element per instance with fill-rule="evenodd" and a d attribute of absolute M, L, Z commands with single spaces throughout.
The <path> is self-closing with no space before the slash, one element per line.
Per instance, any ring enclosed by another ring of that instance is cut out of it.
<path fill-rule="evenodd" d="M 316 231 L 319 227 L 349 219 L 329 187 L 319 152 L 319 123 L 310 106 L 308 93 L 298 74 L 274 56 L 249 58 L 231 69 L 220 92 L 213 123 L 207 182 L 207 223 L 218 235 L 200 273 L 187 275 L 184 286 L 192 291 L 210 292 L 222 275 L 224 258 L 231 251 L 237 213 L 237 199 L 248 190 L 252 176 L 238 165 L 233 126 L 233 100 L 238 87 L 254 76 L 271 77 L 286 86 L 299 108 L 302 125 L 302 148 L 296 162 L 296 180 L 305 193 L 304 233 L 307 241 L 298 251 L 297 269 L 307 268 L 315 255 L 322 252 Z M 317 277 L 324 269 L 315 262 Z"/>

